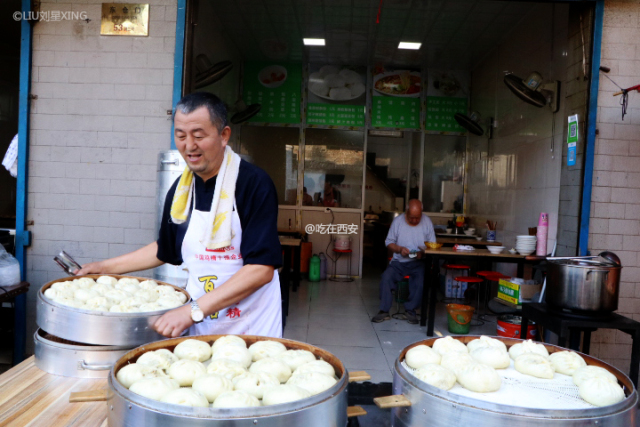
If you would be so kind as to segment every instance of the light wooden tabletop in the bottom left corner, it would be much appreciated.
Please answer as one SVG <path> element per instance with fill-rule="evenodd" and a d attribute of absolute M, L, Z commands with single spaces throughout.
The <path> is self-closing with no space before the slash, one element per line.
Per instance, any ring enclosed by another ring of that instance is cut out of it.
<path fill-rule="evenodd" d="M 107 427 L 105 402 L 69 403 L 69 394 L 107 388 L 106 379 L 41 371 L 31 356 L 0 375 L 0 426 Z"/>

